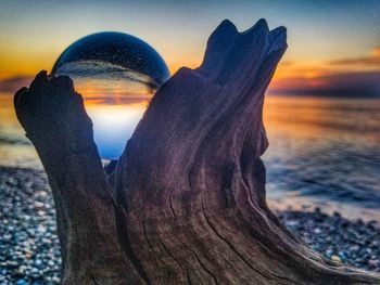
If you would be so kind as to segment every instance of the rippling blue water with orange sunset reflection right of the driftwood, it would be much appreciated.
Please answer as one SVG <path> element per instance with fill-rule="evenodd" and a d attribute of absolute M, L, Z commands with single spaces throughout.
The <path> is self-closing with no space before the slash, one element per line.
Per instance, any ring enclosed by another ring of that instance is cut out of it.
<path fill-rule="evenodd" d="M 273 197 L 320 197 L 380 209 L 380 100 L 267 98 Z"/>

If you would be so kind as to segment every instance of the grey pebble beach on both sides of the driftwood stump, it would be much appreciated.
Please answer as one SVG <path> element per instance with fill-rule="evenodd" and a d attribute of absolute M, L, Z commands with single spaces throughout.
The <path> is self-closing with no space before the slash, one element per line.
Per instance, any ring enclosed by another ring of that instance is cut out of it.
<path fill-rule="evenodd" d="M 288 229 L 327 258 L 380 272 L 380 224 L 339 212 L 277 212 Z M 43 171 L 0 167 L 0 284 L 59 284 L 55 210 Z"/>

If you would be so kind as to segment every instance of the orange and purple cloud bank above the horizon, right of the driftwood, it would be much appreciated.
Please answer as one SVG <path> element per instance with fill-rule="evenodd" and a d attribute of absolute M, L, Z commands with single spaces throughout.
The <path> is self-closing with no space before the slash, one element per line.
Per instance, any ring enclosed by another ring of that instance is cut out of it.
<path fill-rule="evenodd" d="M 280 65 L 269 93 L 380 98 L 380 46 L 362 57 Z"/>

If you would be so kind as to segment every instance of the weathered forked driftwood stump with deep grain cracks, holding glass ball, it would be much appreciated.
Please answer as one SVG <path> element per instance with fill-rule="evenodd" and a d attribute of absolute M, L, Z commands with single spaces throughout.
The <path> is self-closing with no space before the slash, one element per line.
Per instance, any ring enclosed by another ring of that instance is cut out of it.
<path fill-rule="evenodd" d="M 307 248 L 266 205 L 263 102 L 286 37 L 224 21 L 107 174 L 68 77 L 41 72 L 15 94 L 53 191 L 63 284 L 380 283 Z"/>

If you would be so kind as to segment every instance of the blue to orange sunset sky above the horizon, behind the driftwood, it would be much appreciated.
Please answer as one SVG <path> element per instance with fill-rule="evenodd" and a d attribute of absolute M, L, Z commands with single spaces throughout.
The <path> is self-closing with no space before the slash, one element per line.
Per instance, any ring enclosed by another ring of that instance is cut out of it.
<path fill-rule="evenodd" d="M 261 17 L 288 28 L 289 49 L 270 92 L 380 95 L 380 1 L 20 1 L 0 2 L 0 90 L 13 91 L 89 34 L 137 36 L 172 74 L 197 67 L 225 18 L 239 30 Z"/>

